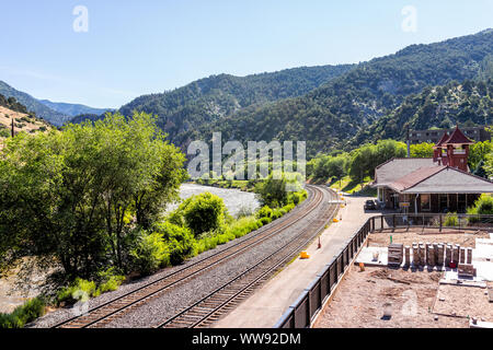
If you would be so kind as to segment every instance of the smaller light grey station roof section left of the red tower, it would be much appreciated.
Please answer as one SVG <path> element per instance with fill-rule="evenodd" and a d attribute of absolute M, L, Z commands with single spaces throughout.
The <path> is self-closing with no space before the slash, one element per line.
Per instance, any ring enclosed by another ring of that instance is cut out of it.
<path fill-rule="evenodd" d="M 395 158 L 375 168 L 374 187 L 389 186 L 419 168 L 436 166 L 432 158 Z"/>

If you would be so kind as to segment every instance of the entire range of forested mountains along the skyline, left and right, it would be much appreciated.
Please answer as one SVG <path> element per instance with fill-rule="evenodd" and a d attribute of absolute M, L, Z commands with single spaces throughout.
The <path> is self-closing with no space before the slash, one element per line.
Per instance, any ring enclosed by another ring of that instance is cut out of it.
<path fill-rule="evenodd" d="M 221 131 L 223 142 L 303 140 L 310 158 L 381 138 L 402 139 L 408 126 L 491 124 L 492 79 L 493 30 L 486 30 L 412 45 L 358 65 L 211 75 L 173 91 L 142 95 L 118 112 L 157 115 L 158 125 L 182 148 L 192 140 L 210 141 L 213 131 Z M 0 93 L 10 96 L 4 85 L 0 82 Z M 76 113 L 73 122 L 103 117 L 94 108 L 16 94 L 30 110 L 56 125 Z"/>

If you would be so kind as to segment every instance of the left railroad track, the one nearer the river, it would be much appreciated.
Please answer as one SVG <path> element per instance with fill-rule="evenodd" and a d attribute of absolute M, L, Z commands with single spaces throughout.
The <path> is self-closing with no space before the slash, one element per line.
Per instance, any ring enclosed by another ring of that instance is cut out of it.
<path fill-rule="evenodd" d="M 307 190 L 309 191 L 309 199 L 301 206 L 297 207 L 293 211 L 293 214 L 276 220 L 276 224 L 266 225 L 257 230 L 256 234 L 252 234 L 242 242 L 218 252 L 216 255 L 185 266 L 183 269 L 159 278 L 156 281 L 147 283 L 112 301 L 103 303 L 102 305 L 88 311 L 83 315 L 74 316 L 58 323 L 53 326 L 53 328 L 104 327 L 107 323 L 123 316 L 125 313 L 148 303 L 152 299 L 161 296 L 170 288 L 175 287 L 177 283 L 188 280 L 198 273 L 217 266 L 218 264 L 223 264 L 238 254 L 261 244 L 273 235 L 276 235 L 294 225 L 299 220 L 319 208 L 324 198 L 323 190 L 313 186 L 308 186 Z"/>

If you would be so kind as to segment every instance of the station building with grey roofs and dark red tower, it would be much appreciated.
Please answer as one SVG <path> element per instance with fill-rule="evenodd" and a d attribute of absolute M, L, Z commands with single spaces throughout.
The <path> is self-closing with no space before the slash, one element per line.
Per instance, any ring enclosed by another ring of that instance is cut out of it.
<path fill-rule="evenodd" d="M 468 167 L 471 141 L 457 127 L 445 132 L 429 159 L 392 159 L 375 170 L 372 187 L 386 209 L 465 213 L 481 194 L 493 192 L 493 182 Z"/>

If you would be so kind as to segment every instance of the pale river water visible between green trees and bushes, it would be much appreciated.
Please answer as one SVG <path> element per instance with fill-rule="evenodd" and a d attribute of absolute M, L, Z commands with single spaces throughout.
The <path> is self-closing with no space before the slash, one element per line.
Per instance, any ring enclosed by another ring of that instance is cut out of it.
<path fill-rule="evenodd" d="M 183 184 L 180 188 L 180 198 L 186 199 L 203 192 L 210 192 L 221 197 L 225 201 L 226 208 L 228 208 L 228 211 L 232 217 L 236 217 L 242 208 L 253 212 L 260 207 L 260 202 L 256 200 L 255 194 L 244 192 L 239 189 L 226 189 L 194 184 Z M 170 205 L 168 206 L 167 211 L 172 211 L 176 209 L 177 206 L 177 203 Z"/>

